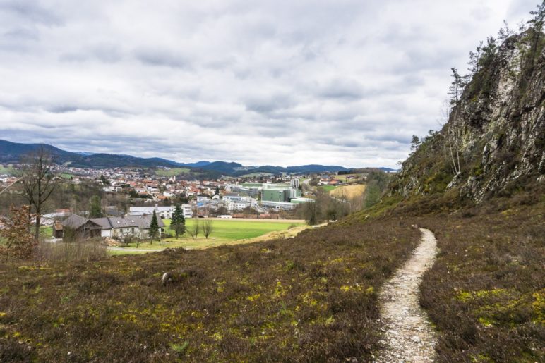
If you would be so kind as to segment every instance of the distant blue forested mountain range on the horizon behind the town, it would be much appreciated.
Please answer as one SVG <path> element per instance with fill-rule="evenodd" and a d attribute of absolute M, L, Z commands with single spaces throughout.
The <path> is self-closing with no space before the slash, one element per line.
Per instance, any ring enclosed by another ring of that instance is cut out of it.
<path fill-rule="evenodd" d="M 40 148 L 46 149 L 56 164 L 64 164 L 76 168 L 189 168 L 190 173 L 208 176 L 243 176 L 250 173 L 323 173 L 333 171 L 348 171 L 348 168 L 336 165 L 301 165 L 301 166 L 243 166 L 239 163 L 226 161 L 198 161 L 196 163 L 178 163 L 176 161 L 161 158 L 139 158 L 130 155 L 94 154 L 91 152 L 67 152 L 49 144 L 20 144 L 0 140 L 0 163 L 17 163 L 20 157 L 36 152 Z M 393 171 L 389 168 L 381 168 L 385 171 Z"/>

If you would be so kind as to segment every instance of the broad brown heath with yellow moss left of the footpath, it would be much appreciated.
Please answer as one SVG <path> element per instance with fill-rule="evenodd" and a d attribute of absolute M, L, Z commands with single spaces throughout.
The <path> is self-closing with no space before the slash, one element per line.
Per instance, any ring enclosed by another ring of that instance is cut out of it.
<path fill-rule="evenodd" d="M 393 220 L 210 250 L 4 263 L 0 361 L 369 360 L 377 289 L 418 240 Z"/>

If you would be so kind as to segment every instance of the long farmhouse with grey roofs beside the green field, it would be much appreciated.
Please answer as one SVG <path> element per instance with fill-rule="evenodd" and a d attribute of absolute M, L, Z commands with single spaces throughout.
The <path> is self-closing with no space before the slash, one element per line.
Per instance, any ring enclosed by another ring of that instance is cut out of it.
<path fill-rule="evenodd" d="M 150 225 L 152 215 L 103 217 L 87 219 L 77 214 L 72 214 L 62 223 L 63 227 L 72 228 L 80 238 L 124 238 L 132 235 L 137 238 L 150 237 Z M 157 218 L 159 235 L 164 228 L 162 219 Z"/>

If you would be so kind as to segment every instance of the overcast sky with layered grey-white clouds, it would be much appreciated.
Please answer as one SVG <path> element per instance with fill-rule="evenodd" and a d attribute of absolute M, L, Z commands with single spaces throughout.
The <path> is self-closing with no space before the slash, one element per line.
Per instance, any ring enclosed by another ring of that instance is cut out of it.
<path fill-rule="evenodd" d="M 0 139 L 396 167 L 450 67 L 537 0 L 0 0 Z"/>

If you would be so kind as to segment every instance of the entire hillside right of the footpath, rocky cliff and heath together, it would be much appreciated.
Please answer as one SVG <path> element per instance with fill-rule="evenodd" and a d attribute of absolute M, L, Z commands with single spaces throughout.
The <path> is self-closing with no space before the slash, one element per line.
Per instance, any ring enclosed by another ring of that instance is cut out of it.
<path fill-rule="evenodd" d="M 440 362 L 545 359 L 544 38 L 529 29 L 484 54 L 383 203 L 350 217 L 408 219 L 436 234 L 420 303 Z"/>

